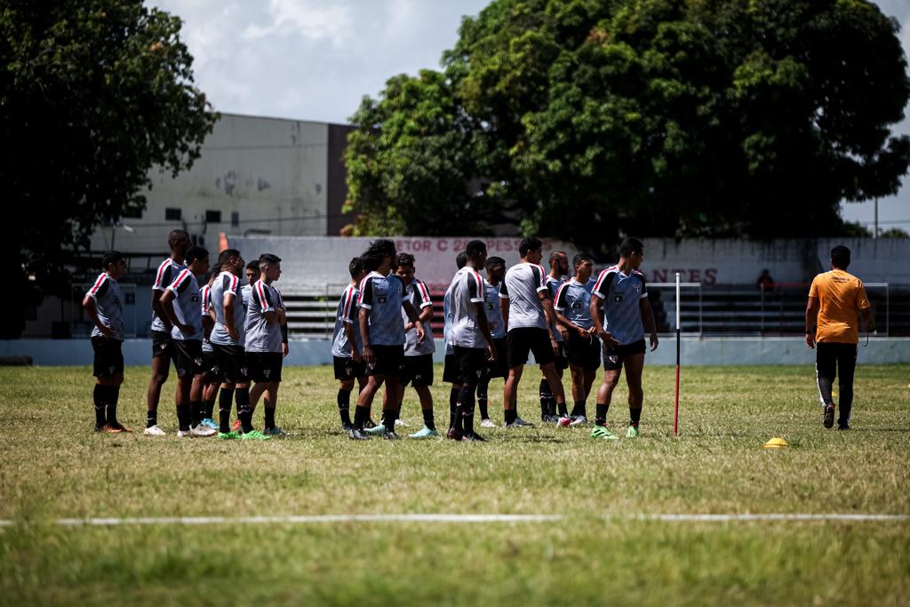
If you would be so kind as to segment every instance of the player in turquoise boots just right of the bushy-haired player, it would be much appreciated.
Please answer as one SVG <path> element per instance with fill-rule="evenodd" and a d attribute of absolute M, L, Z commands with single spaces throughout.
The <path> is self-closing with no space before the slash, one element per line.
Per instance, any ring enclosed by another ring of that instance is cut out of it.
<path fill-rule="evenodd" d="M 430 289 L 420 278 L 414 278 L 414 256 L 410 253 L 399 253 L 395 260 L 397 267 L 395 273 L 404 283 L 405 297 L 410 300 L 410 305 L 420 314 L 420 322 L 424 327 L 430 327 L 433 318 L 433 302 L 430 299 Z M 410 439 L 430 439 L 439 436 L 436 423 L 433 420 L 433 395 L 430 386 L 433 385 L 433 353 L 436 344 L 433 339 L 417 339 L 414 323 L 410 322 L 404 308 L 401 309 L 402 322 L 404 323 L 404 365 L 401 379 L 399 380 L 398 417 L 401 415 L 401 404 L 404 400 L 404 391 L 408 384 L 417 392 L 420 399 L 420 410 L 423 413 L 423 428 L 410 434 Z"/>

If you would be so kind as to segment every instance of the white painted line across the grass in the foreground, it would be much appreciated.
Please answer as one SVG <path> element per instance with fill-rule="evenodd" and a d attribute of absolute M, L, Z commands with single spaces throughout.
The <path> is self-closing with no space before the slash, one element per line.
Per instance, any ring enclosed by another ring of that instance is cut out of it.
<path fill-rule="evenodd" d="M 137 518 L 56 519 L 62 527 L 111 527 L 116 525 L 260 525 L 319 524 L 332 522 L 547 522 L 564 521 L 560 514 L 319 514 L 300 516 L 173 516 Z M 667 522 L 747 522 L 747 521 L 910 521 L 910 514 L 640 514 L 604 519 Z M 0 527 L 15 526 L 16 521 L 0 520 Z"/>

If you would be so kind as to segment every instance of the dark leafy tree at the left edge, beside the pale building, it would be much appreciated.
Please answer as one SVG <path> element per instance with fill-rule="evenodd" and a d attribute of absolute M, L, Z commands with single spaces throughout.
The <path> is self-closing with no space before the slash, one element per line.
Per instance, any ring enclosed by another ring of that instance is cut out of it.
<path fill-rule="evenodd" d="M 0 181 L 23 218 L 3 241 L 20 286 L 59 285 L 97 225 L 145 207 L 152 167 L 199 156 L 217 114 L 180 25 L 141 0 L 0 0 Z"/>

